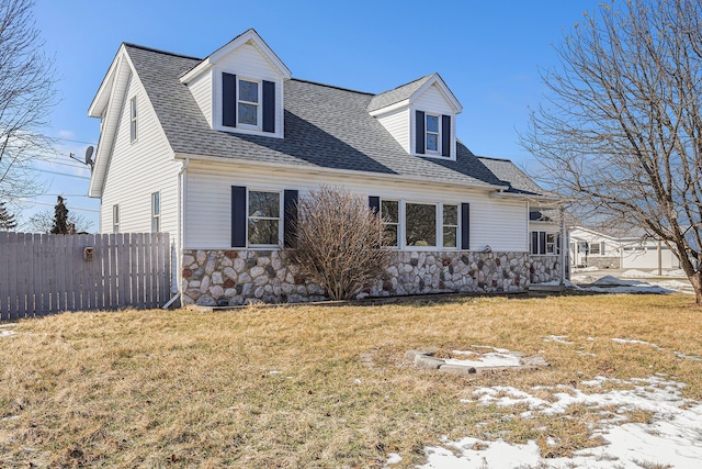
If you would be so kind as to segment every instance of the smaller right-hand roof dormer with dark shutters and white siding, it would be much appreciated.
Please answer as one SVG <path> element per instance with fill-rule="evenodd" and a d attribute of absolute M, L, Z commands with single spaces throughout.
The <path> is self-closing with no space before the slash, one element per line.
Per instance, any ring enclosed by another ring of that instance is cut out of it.
<path fill-rule="evenodd" d="M 367 111 L 415 156 L 456 158 L 456 115 L 463 107 L 439 74 L 376 94 Z"/>

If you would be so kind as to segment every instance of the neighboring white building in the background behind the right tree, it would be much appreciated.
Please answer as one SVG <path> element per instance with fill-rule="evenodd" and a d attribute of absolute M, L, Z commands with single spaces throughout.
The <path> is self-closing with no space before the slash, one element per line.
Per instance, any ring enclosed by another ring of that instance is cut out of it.
<path fill-rule="evenodd" d="M 625 233 L 573 226 L 569 230 L 574 267 L 612 269 L 679 269 L 676 255 L 645 233 Z"/>

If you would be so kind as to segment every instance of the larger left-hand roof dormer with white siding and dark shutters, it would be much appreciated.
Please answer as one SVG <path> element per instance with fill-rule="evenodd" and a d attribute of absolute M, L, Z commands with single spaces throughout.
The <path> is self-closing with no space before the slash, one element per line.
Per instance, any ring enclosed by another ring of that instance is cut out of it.
<path fill-rule="evenodd" d="M 282 138 L 291 71 L 254 30 L 215 51 L 180 81 L 215 131 Z"/>

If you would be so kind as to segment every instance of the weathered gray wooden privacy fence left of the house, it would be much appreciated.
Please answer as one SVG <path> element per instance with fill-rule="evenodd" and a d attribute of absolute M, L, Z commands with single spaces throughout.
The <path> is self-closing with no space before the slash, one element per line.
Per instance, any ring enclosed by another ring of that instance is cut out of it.
<path fill-rule="evenodd" d="M 0 231 L 0 320 L 158 308 L 170 298 L 170 272 L 168 233 Z"/>

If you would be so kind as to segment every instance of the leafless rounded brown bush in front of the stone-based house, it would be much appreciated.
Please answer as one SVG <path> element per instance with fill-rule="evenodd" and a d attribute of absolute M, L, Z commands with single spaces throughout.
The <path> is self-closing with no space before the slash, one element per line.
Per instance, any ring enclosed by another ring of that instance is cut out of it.
<path fill-rule="evenodd" d="M 332 300 L 350 299 L 389 265 L 393 253 L 382 246 L 383 221 L 367 199 L 321 187 L 301 199 L 296 210 L 290 259 Z"/>

